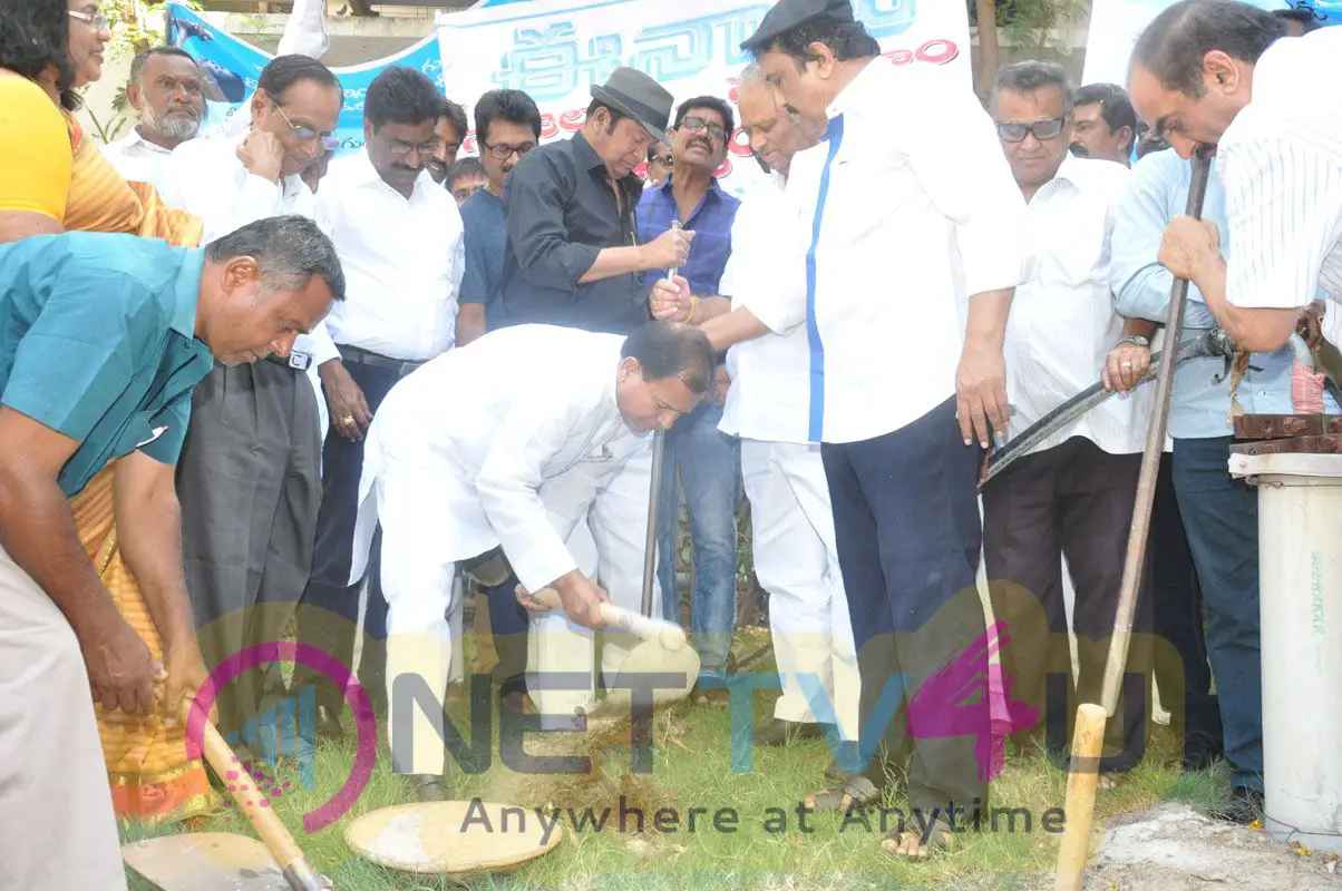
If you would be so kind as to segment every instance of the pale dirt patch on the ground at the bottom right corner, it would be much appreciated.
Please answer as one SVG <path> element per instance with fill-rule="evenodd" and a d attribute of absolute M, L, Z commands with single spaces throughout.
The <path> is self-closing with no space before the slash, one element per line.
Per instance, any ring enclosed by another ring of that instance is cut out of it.
<path fill-rule="evenodd" d="M 1086 871 L 1087 888 L 1342 888 L 1337 861 L 1304 856 L 1260 831 L 1205 817 L 1166 802 L 1111 820 Z"/>

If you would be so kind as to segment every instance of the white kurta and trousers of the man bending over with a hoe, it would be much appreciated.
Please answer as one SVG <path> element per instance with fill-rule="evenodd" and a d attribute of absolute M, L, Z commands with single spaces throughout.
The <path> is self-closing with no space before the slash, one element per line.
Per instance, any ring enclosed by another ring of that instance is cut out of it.
<path fill-rule="evenodd" d="M 382 401 L 365 447 L 350 581 L 364 574 L 381 522 L 389 686 L 416 674 L 442 696 L 455 564 L 497 545 L 531 590 L 580 569 L 613 602 L 639 609 L 651 436 L 620 415 L 623 342 L 568 327 L 503 329 L 432 360 Z M 562 615 L 534 623 L 531 648 L 533 672 L 592 674 L 592 637 Z M 604 668 L 617 671 L 621 658 L 608 644 Z M 529 687 L 550 715 L 595 696 L 595 684 Z M 440 770 L 440 727 L 419 713 L 399 721 L 391 702 L 396 770 Z M 413 759 L 397 750 L 408 727 Z"/>

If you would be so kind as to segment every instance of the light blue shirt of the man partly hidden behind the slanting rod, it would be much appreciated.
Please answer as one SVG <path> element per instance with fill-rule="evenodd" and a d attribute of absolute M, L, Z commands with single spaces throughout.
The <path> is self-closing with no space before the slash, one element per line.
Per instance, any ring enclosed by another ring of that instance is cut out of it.
<path fill-rule="evenodd" d="M 1161 239 L 1170 220 L 1185 212 L 1193 165 L 1173 150 L 1154 152 L 1137 162 L 1127 193 L 1118 205 L 1114 223 L 1111 282 L 1118 311 L 1130 318 L 1164 322 L 1169 311 L 1174 276 L 1155 263 Z M 1208 177 L 1202 219 L 1221 232 L 1221 256 L 1229 256 L 1225 223 L 1225 193 L 1215 170 Z M 1184 339 L 1216 327 L 1216 318 L 1196 284 L 1188 287 L 1184 310 Z M 1247 415 L 1291 415 L 1291 350 L 1253 353 L 1249 370 L 1240 381 L 1235 399 Z M 1326 397 L 1325 408 L 1337 412 Z M 1223 358 L 1194 358 L 1174 373 L 1169 432 L 1174 439 L 1210 439 L 1233 433 L 1231 423 L 1231 381 Z"/>

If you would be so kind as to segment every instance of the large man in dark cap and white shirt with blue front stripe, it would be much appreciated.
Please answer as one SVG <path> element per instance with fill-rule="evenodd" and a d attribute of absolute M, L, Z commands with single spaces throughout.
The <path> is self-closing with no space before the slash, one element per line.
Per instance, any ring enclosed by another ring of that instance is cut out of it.
<path fill-rule="evenodd" d="M 911 733 L 887 703 L 907 704 L 960 656 L 988 672 L 976 484 L 1007 421 L 1001 345 L 1025 271 L 1024 201 L 970 85 L 891 66 L 847 0 L 781 0 L 743 47 L 788 105 L 829 123 L 792 160 L 770 275 L 703 330 L 722 349 L 807 327 L 807 439 L 821 443 L 833 503 L 867 762 L 863 784 L 807 804 L 871 802 L 887 766 L 907 764 L 910 804 L 935 824 L 884 844 L 919 857 L 950 844 L 949 804 L 988 794 L 972 738 L 990 733 L 986 696 Z"/>

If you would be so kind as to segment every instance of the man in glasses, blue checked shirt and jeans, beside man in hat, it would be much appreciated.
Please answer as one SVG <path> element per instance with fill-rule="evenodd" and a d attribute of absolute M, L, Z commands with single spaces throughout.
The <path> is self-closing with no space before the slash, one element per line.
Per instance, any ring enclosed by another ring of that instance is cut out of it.
<path fill-rule="evenodd" d="M 660 185 L 647 189 L 639 201 L 639 240 L 648 243 L 671 229 L 672 223 L 694 232 L 688 259 L 680 274 L 692 294 L 718 294 L 718 283 L 731 254 L 731 223 L 741 201 L 718 185 L 717 172 L 727 156 L 727 140 L 735 129 L 731 107 L 722 99 L 702 95 L 680 103 L 670 132 L 672 170 Z M 651 286 L 666 270 L 648 270 Z M 692 314 L 690 322 L 694 322 Z M 727 704 L 723 683 L 727 652 L 737 617 L 737 498 L 741 490 L 741 452 L 734 436 L 718 429 L 722 405 L 705 400 L 676 421 L 666 435 L 662 498 L 658 517 L 658 580 L 664 617 L 680 620 L 675 596 L 676 533 L 684 492 L 692 531 L 695 584 L 690 615 L 699 652 L 703 687 L 694 696 L 703 704 Z"/>

